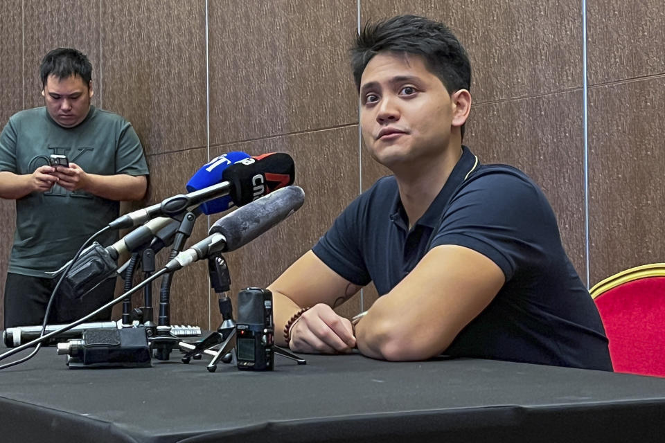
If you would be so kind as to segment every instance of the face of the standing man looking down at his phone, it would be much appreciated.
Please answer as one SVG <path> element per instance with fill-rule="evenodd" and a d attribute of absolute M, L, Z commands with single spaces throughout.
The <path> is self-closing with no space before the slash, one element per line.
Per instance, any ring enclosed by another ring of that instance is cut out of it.
<path fill-rule="evenodd" d="M 62 127 L 75 127 L 90 110 L 92 82 L 85 84 L 79 75 L 57 78 L 49 75 L 42 91 L 48 115 Z"/>

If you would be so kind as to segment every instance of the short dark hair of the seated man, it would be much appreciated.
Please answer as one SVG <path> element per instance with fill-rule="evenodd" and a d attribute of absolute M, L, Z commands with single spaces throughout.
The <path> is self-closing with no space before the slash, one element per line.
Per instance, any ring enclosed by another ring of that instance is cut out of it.
<path fill-rule="evenodd" d="M 471 87 L 471 64 L 462 44 L 444 24 L 417 15 L 367 22 L 351 48 L 355 87 L 372 57 L 383 51 L 422 55 L 425 66 L 452 95 Z M 461 127 L 464 135 L 464 127 Z"/>

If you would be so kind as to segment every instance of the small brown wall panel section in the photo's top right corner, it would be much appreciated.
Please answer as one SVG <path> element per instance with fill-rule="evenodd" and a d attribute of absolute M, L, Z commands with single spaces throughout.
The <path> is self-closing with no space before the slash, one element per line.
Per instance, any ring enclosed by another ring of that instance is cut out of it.
<path fill-rule="evenodd" d="M 587 0 L 589 84 L 665 73 L 662 0 Z"/>

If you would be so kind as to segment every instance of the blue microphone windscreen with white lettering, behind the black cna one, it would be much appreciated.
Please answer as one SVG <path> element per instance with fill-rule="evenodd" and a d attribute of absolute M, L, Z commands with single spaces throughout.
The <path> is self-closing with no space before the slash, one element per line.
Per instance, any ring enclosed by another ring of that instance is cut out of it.
<path fill-rule="evenodd" d="M 224 170 L 233 165 L 233 163 L 245 159 L 249 159 L 249 154 L 240 151 L 227 152 L 227 154 L 215 157 L 215 159 L 212 159 L 203 165 L 202 168 L 189 179 L 187 182 L 187 191 L 194 192 L 220 183 L 224 180 L 222 177 Z M 223 213 L 225 210 L 231 208 L 231 206 L 233 206 L 233 199 L 231 199 L 231 196 L 229 195 L 224 195 L 223 197 L 218 197 L 200 204 L 199 208 L 205 215 L 211 215 Z"/>

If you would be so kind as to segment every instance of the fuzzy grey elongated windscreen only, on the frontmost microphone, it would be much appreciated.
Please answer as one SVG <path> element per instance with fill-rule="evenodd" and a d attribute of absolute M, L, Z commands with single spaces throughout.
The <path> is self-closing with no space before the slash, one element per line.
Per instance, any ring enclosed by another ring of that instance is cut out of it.
<path fill-rule="evenodd" d="M 224 251 L 235 251 L 292 215 L 303 203 L 305 192 L 299 186 L 278 189 L 215 221 L 209 235 L 224 235 Z"/>

